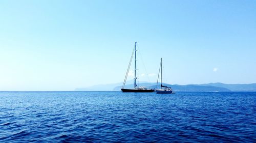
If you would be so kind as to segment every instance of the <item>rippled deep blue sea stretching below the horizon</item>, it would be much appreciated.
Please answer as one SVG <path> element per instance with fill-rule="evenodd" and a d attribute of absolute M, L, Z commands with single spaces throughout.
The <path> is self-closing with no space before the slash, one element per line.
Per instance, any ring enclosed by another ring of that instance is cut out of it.
<path fill-rule="evenodd" d="M 256 92 L 0 92 L 0 142 L 256 142 Z"/>

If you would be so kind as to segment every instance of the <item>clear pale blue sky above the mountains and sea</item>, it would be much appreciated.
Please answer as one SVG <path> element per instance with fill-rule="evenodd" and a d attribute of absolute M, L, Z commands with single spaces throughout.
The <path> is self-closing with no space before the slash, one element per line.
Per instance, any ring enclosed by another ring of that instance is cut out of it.
<path fill-rule="evenodd" d="M 122 82 L 135 41 L 140 81 L 145 71 L 157 80 L 162 57 L 170 84 L 256 82 L 256 1 L 8 0 L 0 1 L 0 90 Z"/>

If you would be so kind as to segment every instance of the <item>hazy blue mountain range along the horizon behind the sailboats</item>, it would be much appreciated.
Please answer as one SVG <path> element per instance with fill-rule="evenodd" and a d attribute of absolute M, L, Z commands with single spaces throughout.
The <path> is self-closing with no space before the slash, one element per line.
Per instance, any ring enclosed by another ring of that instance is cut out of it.
<path fill-rule="evenodd" d="M 120 91 L 122 88 L 122 82 L 113 84 L 100 84 L 93 85 L 88 88 L 77 88 L 75 91 Z M 251 84 L 225 84 L 225 83 L 206 83 L 206 84 L 188 84 L 188 85 L 178 85 L 178 84 L 166 84 L 168 87 L 172 87 L 173 91 L 176 92 L 256 92 L 256 83 Z M 142 82 L 139 83 L 140 86 L 148 87 L 151 89 L 156 88 L 156 83 L 152 82 Z M 133 81 L 127 81 L 125 88 L 132 89 Z"/>

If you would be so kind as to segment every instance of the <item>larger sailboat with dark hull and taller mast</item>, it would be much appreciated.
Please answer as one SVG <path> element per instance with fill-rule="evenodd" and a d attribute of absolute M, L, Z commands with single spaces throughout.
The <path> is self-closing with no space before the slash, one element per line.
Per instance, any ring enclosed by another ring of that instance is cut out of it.
<path fill-rule="evenodd" d="M 126 72 L 126 75 L 125 75 L 125 78 L 124 78 L 124 81 L 123 81 L 123 86 L 122 86 L 122 92 L 154 92 L 155 90 L 154 89 L 147 89 L 145 87 L 138 87 L 137 84 L 136 84 L 136 52 L 137 52 L 137 49 L 136 49 L 136 45 L 137 45 L 137 42 L 135 42 L 135 47 L 133 49 L 133 53 L 132 53 L 132 57 L 131 57 L 131 60 L 130 60 L 130 63 L 129 63 L 129 66 L 128 66 L 128 69 L 127 69 L 127 72 Z M 133 54 L 135 53 L 135 63 L 134 63 L 134 89 L 124 89 L 124 85 L 125 85 L 125 82 L 126 82 L 126 79 L 127 79 L 127 76 L 128 76 L 128 73 L 129 73 L 129 70 L 130 70 L 130 67 L 131 67 L 131 63 L 132 63 L 132 60 L 133 60 Z"/>

